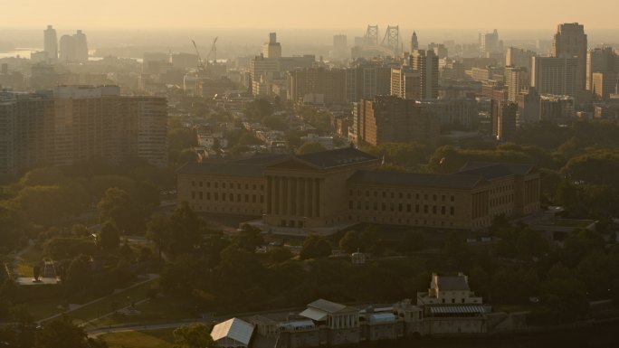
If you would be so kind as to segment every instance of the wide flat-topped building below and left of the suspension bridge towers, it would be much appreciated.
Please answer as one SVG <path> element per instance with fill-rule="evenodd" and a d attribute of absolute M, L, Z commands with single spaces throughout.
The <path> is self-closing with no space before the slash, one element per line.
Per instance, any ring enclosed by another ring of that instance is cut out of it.
<path fill-rule="evenodd" d="M 346 104 L 346 71 L 305 68 L 286 73 L 288 99 L 295 104 Z"/>

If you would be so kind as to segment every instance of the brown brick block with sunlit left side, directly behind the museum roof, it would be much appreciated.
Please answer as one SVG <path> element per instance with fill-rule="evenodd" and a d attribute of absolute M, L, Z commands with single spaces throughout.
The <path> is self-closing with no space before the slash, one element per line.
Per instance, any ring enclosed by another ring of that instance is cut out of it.
<path fill-rule="evenodd" d="M 430 148 L 440 135 L 439 118 L 424 113 L 414 99 L 376 96 L 358 103 L 357 141 L 371 145 L 418 142 Z"/>

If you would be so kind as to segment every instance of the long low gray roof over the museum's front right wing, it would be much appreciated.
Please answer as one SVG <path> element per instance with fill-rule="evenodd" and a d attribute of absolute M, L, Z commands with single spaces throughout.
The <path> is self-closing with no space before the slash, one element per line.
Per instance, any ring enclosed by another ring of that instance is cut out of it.
<path fill-rule="evenodd" d="M 348 179 L 348 182 L 415 185 L 449 189 L 471 189 L 485 183 L 480 175 L 417 174 L 387 171 L 358 171 Z"/>

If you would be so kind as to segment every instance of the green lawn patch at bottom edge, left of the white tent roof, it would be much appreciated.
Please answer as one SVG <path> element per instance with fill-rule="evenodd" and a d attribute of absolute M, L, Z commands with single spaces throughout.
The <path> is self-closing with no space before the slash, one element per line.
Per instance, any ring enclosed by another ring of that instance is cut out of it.
<path fill-rule="evenodd" d="M 130 331 L 125 333 L 102 334 L 100 337 L 110 348 L 172 348 L 174 329 Z"/>

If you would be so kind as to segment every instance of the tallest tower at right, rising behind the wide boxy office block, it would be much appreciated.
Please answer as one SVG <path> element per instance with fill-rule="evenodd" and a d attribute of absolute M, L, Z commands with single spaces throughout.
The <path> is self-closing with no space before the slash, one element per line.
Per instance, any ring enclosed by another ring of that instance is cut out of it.
<path fill-rule="evenodd" d="M 552 56 L 576 58 L 578 60 L 576 70 L 576 89 L 578 91 L 586 88 L 586 49 L 586 33 L 582 24 L 567 23 L 557 26 L 555 40 L 552 42 Z"/>

